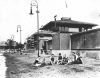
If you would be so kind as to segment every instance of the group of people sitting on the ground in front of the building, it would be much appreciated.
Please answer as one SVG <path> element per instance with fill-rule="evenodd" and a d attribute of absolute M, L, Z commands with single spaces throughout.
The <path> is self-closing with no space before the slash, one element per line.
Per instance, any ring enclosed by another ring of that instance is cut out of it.
<path fill-rule="evenodd" d="M 66 57 L 65 54 L 62 56 L 61 53 L 59 53 L 57 59 L 54 56 L 54 54 L 51 54 L 50 63 L 48 63 L 48 65 L 54 65 L 54 64 L 58 64 L 58 65 L 82 64 L 82 60 L 81 60 L 80 56 L 78 56 L 75 52 L 72 52 L 72 55 L 74 57 L 73 61 L 69 62 L 68 57 Z M 42 62 L 40 62 L 39 59 L 40 59 L 40 57 L 35 59 L 34 65 L 38 66 L 38 65 L 41 65 L 41 64 L 46 64 L 45 58 L 43 59 Z"/>

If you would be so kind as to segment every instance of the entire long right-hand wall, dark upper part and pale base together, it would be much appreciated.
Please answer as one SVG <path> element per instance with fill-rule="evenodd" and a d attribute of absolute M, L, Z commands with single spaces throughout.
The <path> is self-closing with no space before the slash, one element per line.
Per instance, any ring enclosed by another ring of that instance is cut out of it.
<path fill-rule="evenodd" d="M 72 51 L 82 57 L 100 59 L 100 29 L 71 36 Z"/>

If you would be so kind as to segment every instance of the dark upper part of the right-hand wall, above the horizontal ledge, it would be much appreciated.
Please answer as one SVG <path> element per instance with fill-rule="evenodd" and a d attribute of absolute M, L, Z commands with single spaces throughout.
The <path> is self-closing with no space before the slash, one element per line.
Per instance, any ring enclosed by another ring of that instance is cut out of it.
<path fill-rule="evenodd" d="M 71 36 L 72 49 L 100 48 L 100 30 Z"/>

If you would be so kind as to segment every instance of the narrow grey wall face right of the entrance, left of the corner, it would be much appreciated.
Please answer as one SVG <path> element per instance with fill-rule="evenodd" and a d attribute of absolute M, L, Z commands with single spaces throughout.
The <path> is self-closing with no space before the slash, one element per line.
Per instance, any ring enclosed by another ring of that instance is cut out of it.
<path fill-rule="evenodd" d="M 54 34 L 52 38 L 52 49 L 60 50 L 60 35 L 59 34 Z"/>

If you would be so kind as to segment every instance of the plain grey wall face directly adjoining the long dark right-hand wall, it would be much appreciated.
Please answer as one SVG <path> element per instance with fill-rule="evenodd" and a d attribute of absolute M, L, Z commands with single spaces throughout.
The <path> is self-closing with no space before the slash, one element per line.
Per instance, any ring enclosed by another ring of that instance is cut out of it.
<path fill-rule="evenodd" d="M 70 49 L 70 34 L 60 33 L 60 50 Z"/>

